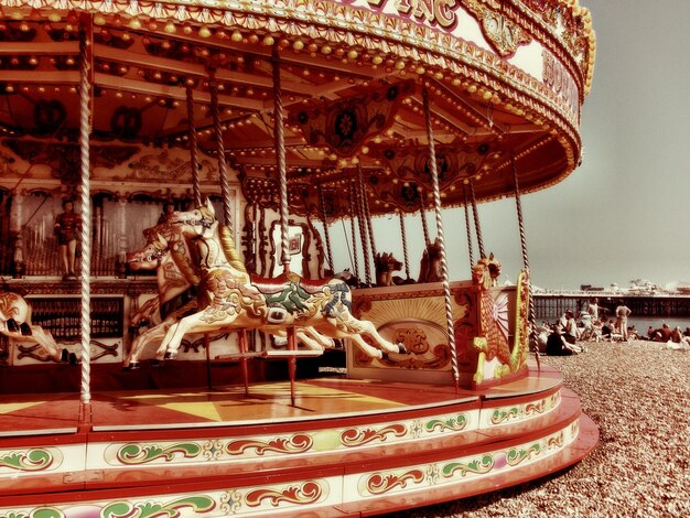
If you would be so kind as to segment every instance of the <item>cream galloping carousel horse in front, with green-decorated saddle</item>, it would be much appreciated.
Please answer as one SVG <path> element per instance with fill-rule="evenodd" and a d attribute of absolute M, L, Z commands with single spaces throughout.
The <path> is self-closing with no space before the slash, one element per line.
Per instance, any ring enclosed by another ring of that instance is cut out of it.
<path fill-rule="evenodd" d="M 313 328 L 330 338 L 351 338 L 370 357 L 405 353 L 403 346 L 380 336 L 371 322 L 352 315 L 352 293 L 344 281 L 304 280 L 293 272 L 270 279 L 250 276 L 229 229 L 216 220 L 211 202 L 194 211 L 174 213 L 171 223 L 183 236 L 197 241 L 202 296 L 198 311 L 168 331 L 161 345 L 166 358 L 176 356 L 186 333 L 242 328 L 272 333 L 294 326 Z"/>

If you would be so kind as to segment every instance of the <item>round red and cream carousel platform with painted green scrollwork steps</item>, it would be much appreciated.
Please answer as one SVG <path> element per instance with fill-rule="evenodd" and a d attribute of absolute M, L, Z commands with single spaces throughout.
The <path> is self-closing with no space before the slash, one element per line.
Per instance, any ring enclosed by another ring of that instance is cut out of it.
<path fill-rule="evenodd" d="M 482 392 L 339 376 L 0 400 L 0 516 L 369 516 L 558 472 L 597 443 L 550 367 Z"/>

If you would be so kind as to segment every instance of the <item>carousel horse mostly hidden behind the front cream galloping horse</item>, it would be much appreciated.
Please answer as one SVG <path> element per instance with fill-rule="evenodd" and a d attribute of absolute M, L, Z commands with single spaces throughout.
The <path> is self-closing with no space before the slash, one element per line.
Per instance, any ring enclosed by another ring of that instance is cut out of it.
<path fill-rule="evenodd" d="M 184 238 L 169 224 L 158 225 L 144 234 L 149 237 L 148 242 L 141 249 L 130 253 L 127 261 L 133 270 L 157 270 L 159 298 L 148 301 L 151 302 L 148 307 L 142 306 L 132 317 L 133 322 L 147 319 L 153 325 L 134 338 L 125 360 L 125 370 L 139 368 L 139 356 L 144 347 L 154 341 L 161 341 L 169 327 L 180 317 L 194 313 L 198 309 L 196 299 L 198 278 L 192 271 Z M 163 234 L 168 236 L 168 239 Z M 160 312 L 161 307 L 164 311 L 163 314 Z M 287 336 L 284 331 L 277 331 L 276 334 L 279 337 Z M 295 335 L 299 342 L 312 350 L 323 350 L 335 346 L 333 339 L 319 334 L 309 326 L 300 326 Z M 157 358 L 163 359 L 164 353 L 164 348 L 159 348 Z"/>

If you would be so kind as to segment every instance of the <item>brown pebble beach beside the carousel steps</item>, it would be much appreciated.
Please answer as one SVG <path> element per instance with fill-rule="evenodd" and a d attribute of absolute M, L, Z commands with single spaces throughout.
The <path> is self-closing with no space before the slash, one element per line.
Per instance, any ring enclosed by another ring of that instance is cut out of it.
<path fill-rule="evenodd" d="M 690 516 L 690 352 L 666 344 L 586 344 L 541 356 L 563 373 L 600 430 L 582 462 L 546 478 L 389 517 Z"/>

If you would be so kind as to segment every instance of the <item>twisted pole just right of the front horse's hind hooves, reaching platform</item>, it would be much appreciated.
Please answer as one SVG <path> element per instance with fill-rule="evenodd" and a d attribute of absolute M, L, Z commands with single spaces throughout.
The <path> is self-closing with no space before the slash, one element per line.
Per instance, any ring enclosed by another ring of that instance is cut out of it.
<path fill-rule="evenodd" d="M 429 141 L 429 164 L 431 169 L 431 182 L 433 187 L 433 205 L 436 216 L 436 235 L 441 244 L 441 276 L 443 280 L 443 294 L 445 298 L 445 319 L 448 324 L 448 345 L 451 348 L 451 367 L 453 379 L 455 380 L 455 391 L 460 390 L 460 367 L 457 365 L 457 350 L 455 349 L 455 332 L 453 326 L 453 306 L 451 298 L 451 283 L 448 271 L 448 259 L 445 256 L 445 240 L 443 237 L 443 218 L 441 217 L 441 192 L 439 188 L 439 170 L 436 166 L 436 151 L 433 141 L 433 128 L 431 125 L 431 112 L 429 109 L 429 91 L 427 85 L 422 87 L 422 101 L 424 105 L 424 117 L 427 119 L 427 140 Z"/>

